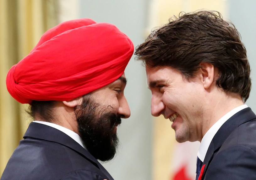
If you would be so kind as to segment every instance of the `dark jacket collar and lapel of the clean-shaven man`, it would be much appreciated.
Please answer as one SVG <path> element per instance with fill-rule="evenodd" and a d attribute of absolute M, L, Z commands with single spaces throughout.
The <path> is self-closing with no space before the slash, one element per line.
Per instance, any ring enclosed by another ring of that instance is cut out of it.
<path fill-rule="evenodd" d="M 207 153 L 205 155 L 204 162 L 203 162 L 203 165 L 205 164 L 205 167 L 204 167 L 204 172 L 203 172 L 203 175 L 202 175 L 202 179 L 204 179 L 205 172 L 207 171 L 208 166 L 209 166 L 213 156 L 215 155 L 216 152 L 219 151 L 222 144 L 227 139 L 227 137 L 231 134 L 231 132 L 235 128 L 240 126 L 241 124 L 243 124 L 245 122 L 248 122 L 248 121 L 251 121 L 255 118 L 256 118 L 255 114 L 253 113 L 251 108 L 248 107 L 248 108 L 245 108 L 245 109 L 237 112 L 233 116 L 231 116 L 221 126 L 221 128 L 217 131 L 217 133 L 213 137 L 213 140 L 211 141 L 210 146 L 209 146 L 209 148 L 207 150 Z"/>

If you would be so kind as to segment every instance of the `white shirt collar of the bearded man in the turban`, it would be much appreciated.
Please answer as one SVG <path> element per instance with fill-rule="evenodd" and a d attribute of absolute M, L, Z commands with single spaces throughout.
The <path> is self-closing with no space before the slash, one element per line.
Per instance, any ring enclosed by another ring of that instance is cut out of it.
<path fill-rule="evenodd" d="M 57 130 L 60 130 L 60 131 L 64 132 L 66 135 L 68 135 L 69 137 L 74 139 L 78 144 L 80 144 L 84 149 L 86 149 L 84 144 L 83 144 L 82 138 L 77 133 L 75 133 L 74 131 L 71 131 L 68 128 L 65 128 L 63 126 L 60 126 L 60 125 L 57 125 L 57 124 L 54 124 L 54 123 L 51 123 L 51 122 L 45 122 L 45 121 L 33 121 L 33 122 L 44 124 L 44 125 L 47 125 L 47 126 L 51 126 L 51 127 L 55 128 Z"/>

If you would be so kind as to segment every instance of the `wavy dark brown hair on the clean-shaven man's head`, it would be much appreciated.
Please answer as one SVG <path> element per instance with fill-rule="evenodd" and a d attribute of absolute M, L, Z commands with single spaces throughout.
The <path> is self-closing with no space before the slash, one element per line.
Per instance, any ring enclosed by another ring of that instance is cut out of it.
<path fill-rule="evenodd" d="M 250 94 L 250 65 L 235 26 L 216 11 L 180 13 L 153 30 L 136 48 L 137 60 L 149 67 L 170 66 L 189 80 L 201 62 L 219 70 L 216 85 L 238 93 L 245 102 Z"/>

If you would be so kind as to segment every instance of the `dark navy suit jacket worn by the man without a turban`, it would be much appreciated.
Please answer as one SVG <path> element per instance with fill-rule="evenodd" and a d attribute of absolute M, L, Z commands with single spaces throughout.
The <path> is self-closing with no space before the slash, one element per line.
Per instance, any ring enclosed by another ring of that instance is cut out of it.
<path fill-rule="evenodd" d="M 210 143 L 202 179 L 256 180 L 256 116 L 245 108 L 228 119 Z"/>

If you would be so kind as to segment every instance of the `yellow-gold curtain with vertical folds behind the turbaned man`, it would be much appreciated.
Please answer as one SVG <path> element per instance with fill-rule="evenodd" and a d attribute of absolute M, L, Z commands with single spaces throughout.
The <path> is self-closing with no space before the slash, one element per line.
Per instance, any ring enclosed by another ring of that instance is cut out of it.
<path fill-rule="evenodd" d="M 9 95 L 5 78 L 10 67 L 57 23 L 55 7 L 54 0 L 0 0 L 0 176 L 30 122 L 26 105 Z"/>

